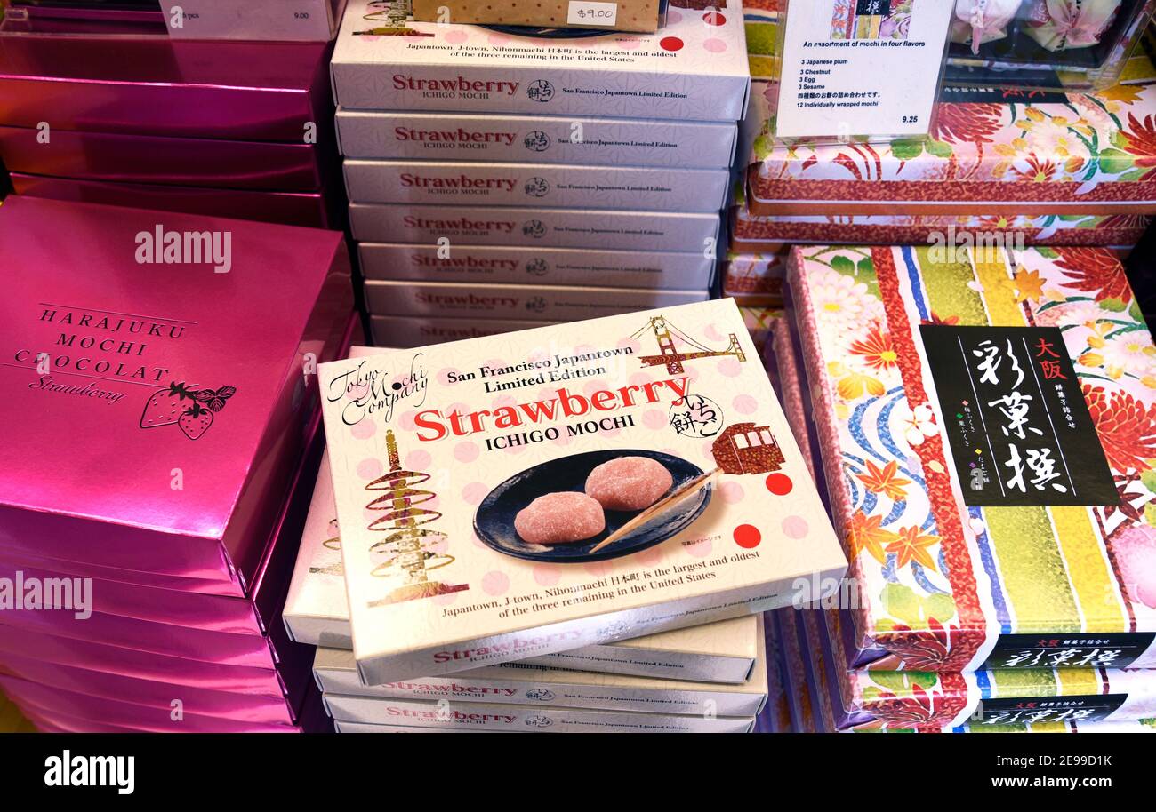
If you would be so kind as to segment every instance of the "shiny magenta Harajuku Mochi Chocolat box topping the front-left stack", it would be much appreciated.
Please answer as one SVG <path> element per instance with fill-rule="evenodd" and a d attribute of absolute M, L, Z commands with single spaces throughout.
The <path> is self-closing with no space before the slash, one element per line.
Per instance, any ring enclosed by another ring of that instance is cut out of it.
<path fill-rule="evenodd" d="M 199 234 L 229 262 L 147 249 Z M 342 236 L 17 196 L 0 266 L 36 269 L 0 301 L 0 546 L 243 595 L 348 323 Z"/>

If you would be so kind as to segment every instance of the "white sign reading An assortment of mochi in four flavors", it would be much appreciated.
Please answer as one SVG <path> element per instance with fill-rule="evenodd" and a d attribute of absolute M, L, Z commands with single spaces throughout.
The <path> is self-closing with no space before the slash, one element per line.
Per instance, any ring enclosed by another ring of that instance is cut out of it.
<path fill-rule="evenodd" d="M 776 135 L 926 135 L 954 3 L 795 0 Z"/>

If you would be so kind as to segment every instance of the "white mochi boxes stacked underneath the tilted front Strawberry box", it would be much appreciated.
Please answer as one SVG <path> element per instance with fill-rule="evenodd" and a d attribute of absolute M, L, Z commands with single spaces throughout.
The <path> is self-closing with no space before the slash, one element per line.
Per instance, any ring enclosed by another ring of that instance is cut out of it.
<path fill-rule="evenodd" d="M 386 352 L 355 347 L 350 358 Z M 295 641 L 318 647 L 313 676 L 339 732 L 749 732 L 786 725 L 778 647 L 762 613 L 368 685 L 353 651 L 336 516 L 325 459 L 284 623 Z"/>

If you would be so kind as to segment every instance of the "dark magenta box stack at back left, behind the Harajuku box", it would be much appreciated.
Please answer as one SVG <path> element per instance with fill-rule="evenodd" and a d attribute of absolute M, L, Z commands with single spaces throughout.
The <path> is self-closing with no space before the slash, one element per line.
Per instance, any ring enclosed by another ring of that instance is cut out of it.
<path fill-rule="evenodd" d="M 213 18 L 185 14 L 190 30 L 194 18 Z M 312 35 L 321 42 L 228 42 L 178 39 L 177 29 L 170 37 L 166 21 L 160 7 L 17 0 L 7 10 L 0 162 L 15 192 L 314 228 L 342 222 L 328 25 Z"/>

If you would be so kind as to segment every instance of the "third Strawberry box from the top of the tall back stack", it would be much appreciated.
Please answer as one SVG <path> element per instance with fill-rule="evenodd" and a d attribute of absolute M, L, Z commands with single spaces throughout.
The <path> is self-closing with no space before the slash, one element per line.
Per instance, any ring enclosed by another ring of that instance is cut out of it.
<path fill-rule="evenodd" d="M 575 209 L 718 211 L 729 170 L 571 166 L 439 161 L 344 162 L 358 203 L 544 206 Z"/>

